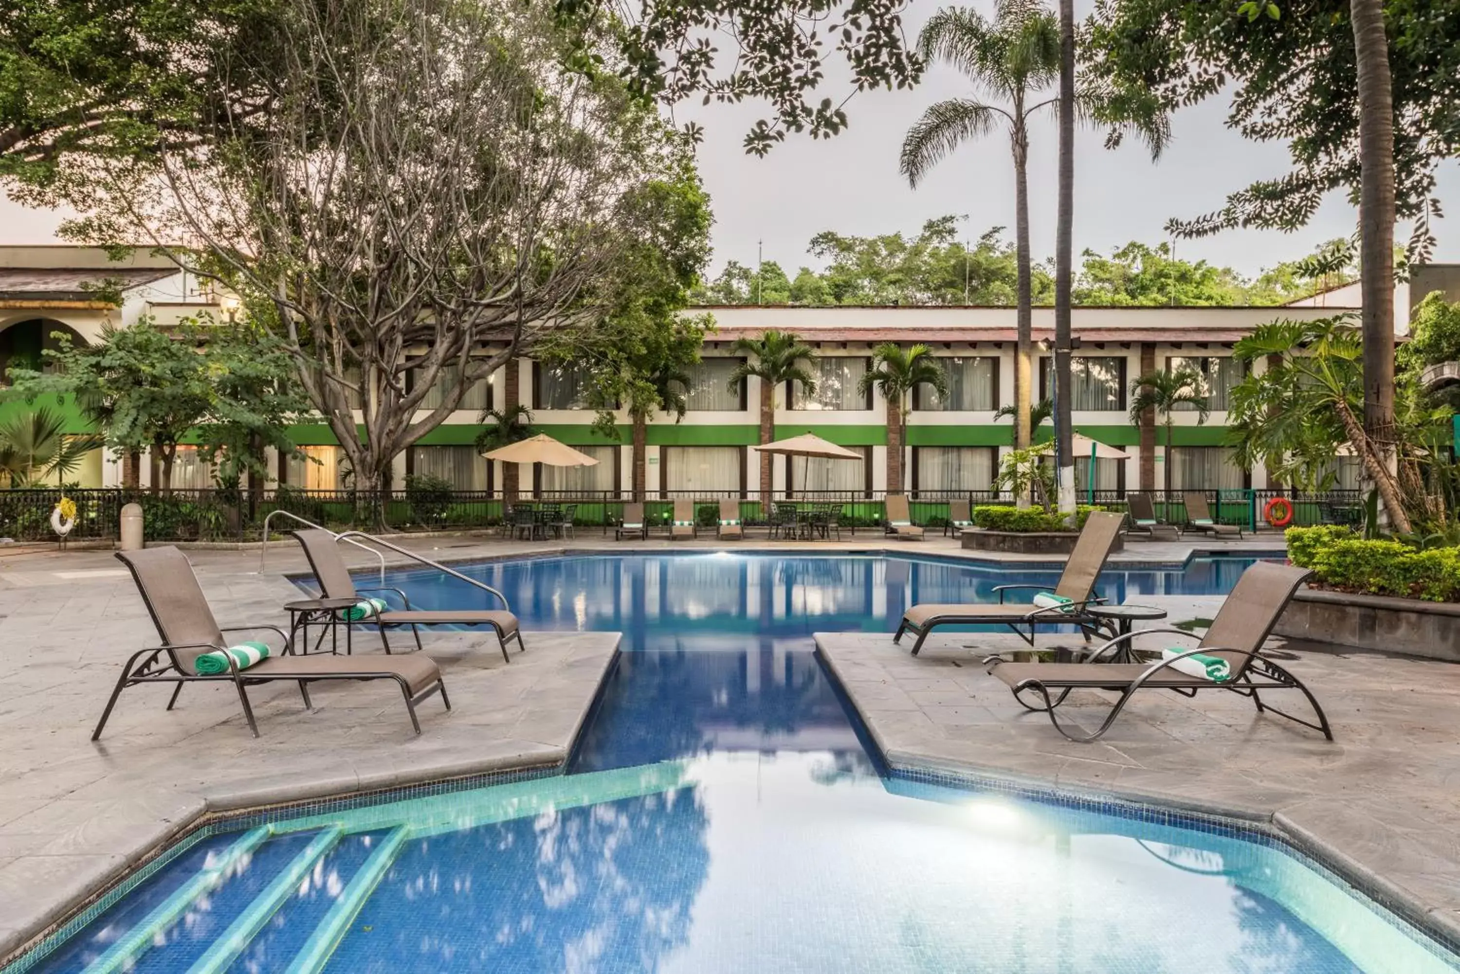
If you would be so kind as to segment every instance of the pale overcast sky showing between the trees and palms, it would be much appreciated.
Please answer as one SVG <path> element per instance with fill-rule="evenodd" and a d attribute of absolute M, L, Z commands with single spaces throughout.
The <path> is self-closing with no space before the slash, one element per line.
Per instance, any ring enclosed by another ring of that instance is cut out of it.
<path fill-rule="evenodd" d="M 910 38 L 940 4 L 912 0 L 905 16 Z M 988 0 L 977 6 L 991 10 Z M 1088 3 L 1077 1 L 1080 15 Z M 844 77 L 844 72 L 828 72 Z M 828 82 L 825 95 L 840 99 L 844 83 Z M 683 105 L 676 121 L 696 120 L 705 129 L 699 171 L 714 202 L 712 273 L 727 260 L 753 266 L 756 244 L 764 241 L 766 260 L 780 261 L 793 276 L 813 261 L 806 244 L 813 234 L 834 229 L 873 235 L 915 234 L 926 219 L 945 213 L 967 215 L 968 238 L 990 226 L 1013 226 L 1013 172 L 1003 136 L 969 143 L 933 171 L 923 185 L 910 190 L 898 175 L 898 149 L 908 126 L 923 110 L 943 98 L 968 93 L 964 77 L 934 67 L 923 85 L 907 92 L 867 92 L 847 107 L 850 127 L 840 136 L 812 142 L 790 136 L 758 159 L 745 155 L 742 139 L 765 114 L 758 104 Z M 1225 99 L 1188 108 L 1174 118 L 1175 139 L 1159 162 L 1130 140 L 1108 152 L 1095 131 L 1080 131 L 1075 168 L 1075 248 L 1108 251 L 1132 239 L 1159 242 L 1172 216 L 1197 216 L 1219 207 L 1226 193 L 1260 177 L 1286 171 L 1282 143 L 1251 143 L 1225 127 Z M 1031 134 L 1031 223 L 1034 253 L 1053 254 L 1056 194 L 1056 133 L 1050 117 Z M 1440 177 L 1440 197 L 1456 213 L 1435 225 L 1440 247 L 1435 260 L 1460 261 L 1460 165 L 1447 164 Z M 32 212 L 0 200 L 0 244 L 51 242 L 60 215 Z M 1355 212 L 1342 196 L 1330 197 L 1317 218 L 1296 234 L 1228 231 L 1218 237 L 1178 241 L 1181 257 L 1226 264 L 1256 275 L 1280 260 L 1308 253 L 1314 245 L 1355 229 Z M 1400 241 L 1407 228 L 1399 229 Z"/>

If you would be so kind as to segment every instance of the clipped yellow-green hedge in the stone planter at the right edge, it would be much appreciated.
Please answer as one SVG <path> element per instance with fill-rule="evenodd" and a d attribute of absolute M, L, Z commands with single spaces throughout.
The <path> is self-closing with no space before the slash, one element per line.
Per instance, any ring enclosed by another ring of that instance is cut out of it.
<path fill-rule="evenodd" d="M 1416 549 L 1368 540 L 1346 527 L 1289 527 L 1288 556 L 1340 591 L 1460 602 L 1460 548 Z"/>

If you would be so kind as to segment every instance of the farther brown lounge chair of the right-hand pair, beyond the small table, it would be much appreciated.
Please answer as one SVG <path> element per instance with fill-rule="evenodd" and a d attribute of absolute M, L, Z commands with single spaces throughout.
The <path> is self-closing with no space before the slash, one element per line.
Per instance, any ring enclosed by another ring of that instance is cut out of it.
<path fill-rule="evenodd" d="M 1034 645 L 1034 634 L 1038 626 L 1077 625 L 1085 632 L 1085 638 L 1096 629 L 1098 621 L 1085 612 L 1091 603 L 1102 602 L 1095 594 L 1095 580 L 1099 578 L 1110 549 L 1120 536 L 1120 526 L 1124 524 L 1124 514 L 1110 511 L 1095 511 L 1085 521 L 1085 530 L 1075 542 L 1070 559 L 1064 562 L 1064 571 L 1054 587 L 1054 594 L 1069 599 L 1060 606 L 1041 607 L 1034 603 L 1006 603 L 1004 593 L 1013 588 L 1047 590 L 1048 586 L 1010 584 L 994 586 L 999 593 L 999 605 L 968 603 L 968 605 L 915 605 L 902 613 L 902 624 L 898 626 L 892 641 L 902 638 L 904 632 L 917 634 L 912 644 L 912 656 L 923 648 L 923 641 L 940 625 L 1006 625 Z"/>

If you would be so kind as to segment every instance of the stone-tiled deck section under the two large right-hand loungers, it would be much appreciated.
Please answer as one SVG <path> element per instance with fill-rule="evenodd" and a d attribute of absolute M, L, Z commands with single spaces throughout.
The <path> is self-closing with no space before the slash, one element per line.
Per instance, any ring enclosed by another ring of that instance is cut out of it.
<path fill-rule="evenodd" d="M 1140 602 L 1165 607 L 1172 622 L 1209 619 L 1221 605 Z M 1142 692 L 1104 737 L 1080 745 L 984 672 L 988 653 L 1026 648 L 1018 637 L 934 635 L 917 657 L 886 634 L 818 634 L 816 645 L 896 770 L 991 775 L 1266 822 L 1396 911 L 1460 942 L 1460 666 L 1273 638 L 1269 648 L 1324 707 L 1334 742 L 1260 716 L 1232 694 Z M 1304 714 L 1301 694 L 1266 697 Z M 1063 718 L 1094 730 L 1114 698 L 1072 694 Z"/>

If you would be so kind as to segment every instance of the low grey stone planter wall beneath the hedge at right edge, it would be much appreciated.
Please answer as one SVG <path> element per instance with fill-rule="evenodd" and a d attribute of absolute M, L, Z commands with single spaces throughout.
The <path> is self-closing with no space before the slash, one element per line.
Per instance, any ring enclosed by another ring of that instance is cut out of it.
<path fill-rule="evenodd" d="M 1273 635 L 1460 663 L 1460 605 L 1301 588 Z"/>

